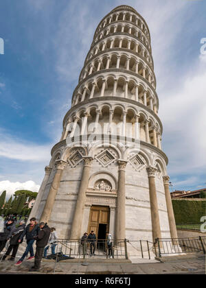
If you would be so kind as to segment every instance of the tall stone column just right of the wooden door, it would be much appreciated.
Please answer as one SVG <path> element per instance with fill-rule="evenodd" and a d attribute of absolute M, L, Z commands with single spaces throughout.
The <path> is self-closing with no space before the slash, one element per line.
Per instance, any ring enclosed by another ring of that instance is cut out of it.
<path fill-rule="evenodd" d="M 115 239 L 125 239 L 125 160 L 119 160 L 119 175 L 117 189 L 117 208 L 115 219 Z"/>

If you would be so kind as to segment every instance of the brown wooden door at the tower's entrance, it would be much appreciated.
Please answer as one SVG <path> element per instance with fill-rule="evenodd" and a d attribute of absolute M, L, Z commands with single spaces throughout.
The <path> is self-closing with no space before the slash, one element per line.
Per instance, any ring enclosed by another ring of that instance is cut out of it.
<path fill-rule="evenodd" d="M 87 232 L 90 233 L 93 230 L 98 237 L 99 224 L 106 224 L 106 230 L 109 230 L 109 216 L 108 206 L 91 206 Z"/>

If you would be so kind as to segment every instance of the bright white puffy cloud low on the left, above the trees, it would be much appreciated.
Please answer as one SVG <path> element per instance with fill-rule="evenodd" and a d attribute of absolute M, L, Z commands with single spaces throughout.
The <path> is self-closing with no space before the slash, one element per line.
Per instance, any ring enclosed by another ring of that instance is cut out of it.
<path fill-rule="evenodd" d="M 40 185 L 36 184 L 32 180 L 26 182 L 10 182 L 9 180 L 0 181 L 0 193 L 5 190 L 7 199 L 17 190 L 30 190 L 32 192 L 38 192 L 39 188 Z"/>

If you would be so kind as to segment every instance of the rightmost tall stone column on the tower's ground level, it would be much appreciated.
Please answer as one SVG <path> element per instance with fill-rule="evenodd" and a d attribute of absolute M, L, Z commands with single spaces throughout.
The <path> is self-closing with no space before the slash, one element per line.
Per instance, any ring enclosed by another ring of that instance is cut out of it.
<path fill-rule="evenodd" d="M 169 189 L 169 176 L 163 176 L 163 184 L 165 187 L 165 200 L 166 200 L 166 205 L 168 209 L 168 220 L 169 220 L 169 226 L 170 226 L 170 236 L 171 238 L 178 238 L 177 237 L 177 232 L 176 232 L 176 223 L 174 219 L 174 211 L 172 208 L 172 199 L 170 195 L 170 189 Z"/>

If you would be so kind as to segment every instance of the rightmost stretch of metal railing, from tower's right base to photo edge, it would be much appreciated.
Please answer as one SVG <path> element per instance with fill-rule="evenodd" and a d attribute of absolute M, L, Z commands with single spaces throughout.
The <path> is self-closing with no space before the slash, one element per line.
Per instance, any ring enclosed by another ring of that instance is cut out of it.
<path fill-rule="evenodd" d="M 156 239 L 154 243 L 156 256 L 170 256 L 172 254 L 187 254 L 206 250 L 206 237 Z"/>

